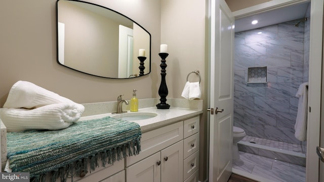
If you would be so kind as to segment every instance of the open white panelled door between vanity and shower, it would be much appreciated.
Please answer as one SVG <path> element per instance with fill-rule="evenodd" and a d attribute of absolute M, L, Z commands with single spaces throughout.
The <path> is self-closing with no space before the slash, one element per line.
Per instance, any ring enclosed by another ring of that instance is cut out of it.
<path fill-rule="evenodd" d="M 227 181 L 232 172 L 234 17 L 224 0 L 211 0 L 210 7 L 209 181 L 215 182 Z"/>

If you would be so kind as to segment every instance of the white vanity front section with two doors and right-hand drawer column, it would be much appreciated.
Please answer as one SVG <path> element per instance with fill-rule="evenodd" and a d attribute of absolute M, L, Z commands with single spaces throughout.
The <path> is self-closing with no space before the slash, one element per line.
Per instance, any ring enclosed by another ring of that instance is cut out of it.
<path fill-rule="evenodd" d="M 199 116 L 142 133 L 141 153 L 126 158 L 126 181 L 197 182 Z"/>

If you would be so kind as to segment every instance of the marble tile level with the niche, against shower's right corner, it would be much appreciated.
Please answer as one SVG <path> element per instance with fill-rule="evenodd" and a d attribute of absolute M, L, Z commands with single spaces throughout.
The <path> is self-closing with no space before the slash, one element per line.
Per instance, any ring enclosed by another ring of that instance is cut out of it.
<path fill-rule="evenodd" d="M 303 67 L 278 68 L 278 82 L 303 82 Z"/>

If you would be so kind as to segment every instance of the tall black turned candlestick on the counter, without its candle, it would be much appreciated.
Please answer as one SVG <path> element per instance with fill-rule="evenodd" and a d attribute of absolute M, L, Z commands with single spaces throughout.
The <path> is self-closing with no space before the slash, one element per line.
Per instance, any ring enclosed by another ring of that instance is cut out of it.
<path fill-rule="evenodd" d="M 166 58 L 168 57 L 168 53 L 158 53 L 158 55 L 162 58 L 161 59 L 161 84 L 158 89 L 158 95 L 160 96 L 160 103 L 156 104 L 158 109 L 169 109 L 170 105 L 167 104 L 167 96 L 168 96 L 168 87 L 166 82 Z"/>

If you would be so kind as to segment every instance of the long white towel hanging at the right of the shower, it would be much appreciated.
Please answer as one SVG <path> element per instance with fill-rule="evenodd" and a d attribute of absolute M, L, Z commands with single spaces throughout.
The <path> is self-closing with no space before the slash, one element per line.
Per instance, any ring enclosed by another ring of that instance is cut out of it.
<path fill-rule="evenodd" d="M 295 124 L 295 137 L 300 141 L 306 140 L 306 128 L 307 128 L 307 100 L 308 100 L 308 82 L 299 86 L 296 93 L 298 100 L 298 110 Z"/>

